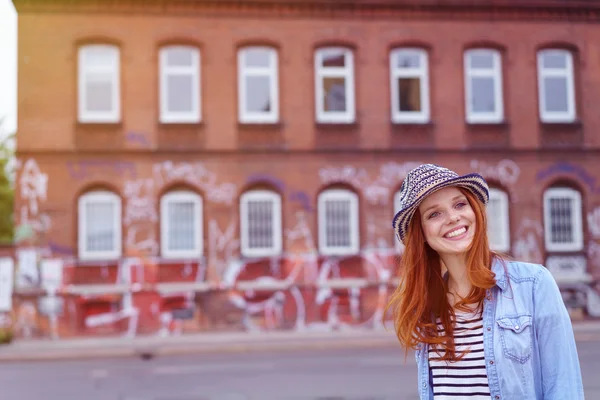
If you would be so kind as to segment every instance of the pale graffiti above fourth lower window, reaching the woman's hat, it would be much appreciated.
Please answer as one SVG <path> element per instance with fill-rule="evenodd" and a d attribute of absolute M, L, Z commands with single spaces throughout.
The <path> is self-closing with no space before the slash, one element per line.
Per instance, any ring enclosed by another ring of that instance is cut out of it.
<path fill-rule="evenodd" d="M 421 164 L 420 162 L 402 164 L 388 162 L 379 168 L 379 175 L 375 179 L 370 178 L 365 168 L 353 166 L 324 167 L 319 170 L 319 176 L 324 184 L 348 183 L 360 189 L 369 203 L 386 205 L 390 190 L 398 187 L 408 172 Z"/>

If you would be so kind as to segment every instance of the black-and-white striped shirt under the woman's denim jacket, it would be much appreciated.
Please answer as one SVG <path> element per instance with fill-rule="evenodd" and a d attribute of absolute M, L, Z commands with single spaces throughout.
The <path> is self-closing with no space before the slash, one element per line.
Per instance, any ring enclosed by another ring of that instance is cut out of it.
<path fill-rule="evenodd" d="M 444 328 L 438 320 L 438 332 Z M 462 359 L 456 362 L 440 361 L 444 350 L 438 352 L 434 345 L 429 348 L 429 368 L 433 377 L 433 398 L 435 400 L 469 399 L 489 400 L 490 388 L 485 370 L 483 353 L 483 317 L 481 313 L 456 312 L 454 328 L 456 354 L 469 349 Z"/>

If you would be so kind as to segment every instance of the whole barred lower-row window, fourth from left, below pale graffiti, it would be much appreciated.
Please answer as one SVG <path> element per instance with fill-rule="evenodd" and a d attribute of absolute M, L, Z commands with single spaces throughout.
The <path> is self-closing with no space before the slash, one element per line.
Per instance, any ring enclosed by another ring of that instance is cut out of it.
<path fill-rule="evenodd" d="M 319 251 L 323 255 L 359 252 L 358 196 L 343 189 L 319 195 Z"/>

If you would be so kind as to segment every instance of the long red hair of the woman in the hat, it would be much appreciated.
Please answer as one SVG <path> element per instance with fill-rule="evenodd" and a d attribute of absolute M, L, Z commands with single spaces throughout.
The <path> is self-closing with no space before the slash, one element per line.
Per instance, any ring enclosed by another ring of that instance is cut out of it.
<path fill-rule="evenodd" d="M 491 266 L 498 255 L 489 247 L 484 205 L 470 191 L 459 189 L 475 213 L 475 235 L 467 250 L 467 277 L 472 289 L 454 307 L 467 310 L 467 305 L 475 304 L 481 310 L 486 290 L 496 284 Z M 404 245 L 400 284 L 386 307 L 386 311 L 392 308 L 394 312 L 398 340 L 405 349 L 416 349 L 421 343 L 441 346 L 445 349 L 442 360 L 459 360 L 464 354 L 457 355 L 455 351 L 452 324 L 455 314 L 446 295 L 448 288 L 441 260 L 425 242 L 418 211 L 410 222 Z M 444 327 L 443 332 L 438 332 L 437 318 Z"/>

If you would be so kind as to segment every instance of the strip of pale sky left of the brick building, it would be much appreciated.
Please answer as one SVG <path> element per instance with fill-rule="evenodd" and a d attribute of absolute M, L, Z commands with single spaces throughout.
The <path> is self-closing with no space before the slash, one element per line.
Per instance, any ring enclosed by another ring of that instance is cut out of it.
<path fill-rule="evenodd" d="M 0 127 L 1 134 L 17 129 L 17 13 L 11 0 L 0 0 Z"/>

